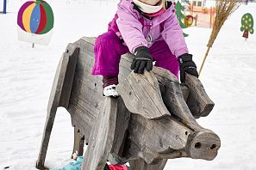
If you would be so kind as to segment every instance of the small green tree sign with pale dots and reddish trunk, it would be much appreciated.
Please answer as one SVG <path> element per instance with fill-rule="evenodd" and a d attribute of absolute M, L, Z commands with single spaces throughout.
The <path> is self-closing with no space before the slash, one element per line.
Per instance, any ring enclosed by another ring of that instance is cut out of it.
<path fill-rule="evenodd" d="M 240 31 L 243 31 L 243 37 L 248 39 L 249 33 L 253 34 L 253 15 L 247 13 L 241 18 L 241 27 Z"/>

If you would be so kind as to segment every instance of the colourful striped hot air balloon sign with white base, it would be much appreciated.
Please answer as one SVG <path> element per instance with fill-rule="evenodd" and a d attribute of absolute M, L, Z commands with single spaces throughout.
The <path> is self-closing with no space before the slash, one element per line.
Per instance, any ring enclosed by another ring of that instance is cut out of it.
<path fill-rule="evenodd" d="M 53 9 L 42 0 L 24 3 L 18 12 L 18 39 L 47 46 L 53 32 Z"/>

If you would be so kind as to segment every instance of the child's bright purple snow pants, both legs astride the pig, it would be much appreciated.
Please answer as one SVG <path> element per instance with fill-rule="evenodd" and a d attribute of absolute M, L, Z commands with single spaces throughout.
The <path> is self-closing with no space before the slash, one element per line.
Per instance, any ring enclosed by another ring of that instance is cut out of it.
<path fill-rule="evenodd" d="M 94 52 L 95 63 L 91 74 L 118 76 L 121 56 L 129 50 L 127 46 L 122 45 L 122 40 L 117 37 L 116 33 L 108 31 L 97 37 Z M 172 74 L 178 77 L 178 60 L 164 40 L 153 43 L 149 52 L 155 61 L 155 66 L 170 70 Z"/>

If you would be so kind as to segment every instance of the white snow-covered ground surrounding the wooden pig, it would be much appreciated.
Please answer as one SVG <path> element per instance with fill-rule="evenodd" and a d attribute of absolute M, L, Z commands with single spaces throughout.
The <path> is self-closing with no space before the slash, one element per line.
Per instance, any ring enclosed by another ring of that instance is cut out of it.
<path fill-rule="evenodd" d="M 106 31 L 117 1 L 49 0 L 55 15 L 51 43 L 31 48 L 31 44 L 19 42 L 16 33 L 17 11 L 25 1 L 9 0 L 9 13 L 0 15 L 0 169 L 35 169 L 59 58 L 69 42 Z M 200 76 L 215 108 L 198 122 L 221 137 L 219 154 L 214 161 L 170 160 L 165 170 L 256 169 L 256 33 L 246 41 L 240 32 L 241 16 L 250 12 L 255 19 L 255 9 L 256 3 L 241 5 L 228 19 Z M 199 27 L 184 30 L 190 34 L 186 41 L 198 66 L 210 31 Z M 47 167 L 62 167 L 70 161 L 72 137 L 70 116 L 59 108 Z"/>

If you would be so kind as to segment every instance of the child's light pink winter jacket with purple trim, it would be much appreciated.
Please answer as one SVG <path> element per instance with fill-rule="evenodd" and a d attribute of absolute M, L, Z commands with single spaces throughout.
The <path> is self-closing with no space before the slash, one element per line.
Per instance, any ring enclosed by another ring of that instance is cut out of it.
<path fill-rule="evenodd" d="M 162 39 L 176 57 L 188 53 L 173 5 L 150 20 L 134 9 L 132 0 L 122 0 L 117 6 L 115 18 L 109 23 L 109 30 L 122 38 L 132 53 L 138 46 L 150 47 L 155 41 Z M 147 41 L 149 34 L 151 42 Z"/>

